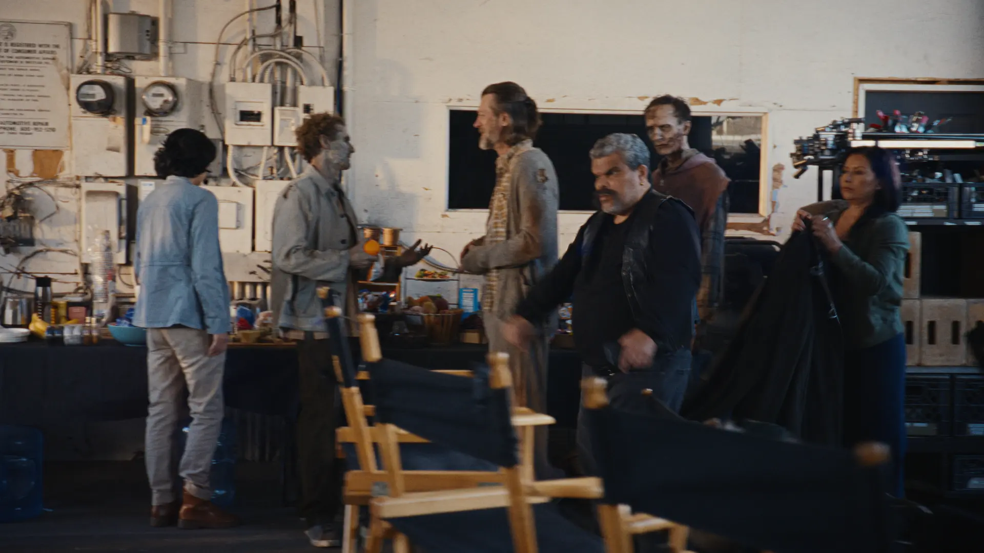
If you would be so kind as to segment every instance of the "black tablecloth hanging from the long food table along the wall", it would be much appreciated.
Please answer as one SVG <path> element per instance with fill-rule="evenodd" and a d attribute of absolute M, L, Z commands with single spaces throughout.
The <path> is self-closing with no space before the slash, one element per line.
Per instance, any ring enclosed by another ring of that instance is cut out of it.
<path fill-rule="evenodd" d="M 353 347 L 357 352 L 358 347 Z M 432 369 L 464 369 L 484 358 L 479 345 L 384 348 L 387 358 Z M 560 426 L 577 425 L 581 361 L 572 350 L 550 353 L 547 412 Z M 290 347 L 230 347 L 225 404 L 292 415 L 297 401 L 297 353 Z M 147 416 L 147 348 L 114 341 L 49 346 L 0 344 L 0 423 L 41 425 L 69 418 L 124 420 Z"/>

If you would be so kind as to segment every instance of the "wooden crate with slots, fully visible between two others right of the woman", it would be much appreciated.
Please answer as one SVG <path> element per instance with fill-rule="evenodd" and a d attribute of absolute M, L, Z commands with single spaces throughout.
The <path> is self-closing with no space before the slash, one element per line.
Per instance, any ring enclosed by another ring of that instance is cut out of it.
<path fill-rule="evenodd" d="M 925 298 L 920 301 L 920 364 L 943 367 L 966 363 L 963 328 L 967 323 L 967 300 Z"/>

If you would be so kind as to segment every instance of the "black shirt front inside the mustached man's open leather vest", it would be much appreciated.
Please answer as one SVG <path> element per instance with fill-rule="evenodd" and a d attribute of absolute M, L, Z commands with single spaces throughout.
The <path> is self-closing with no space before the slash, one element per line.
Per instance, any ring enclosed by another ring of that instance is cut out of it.
<path fill-rule="evenodd" d="M 622 279 L 622 256 L 632 216 L 615 224 L 613 215 L 605 215 L 587 263 L 574 283 L 574 326 L 578 352 L 585 363 L 594 367 L 607 365 L 606 342 L 635 328 L 632 308 Z"/>

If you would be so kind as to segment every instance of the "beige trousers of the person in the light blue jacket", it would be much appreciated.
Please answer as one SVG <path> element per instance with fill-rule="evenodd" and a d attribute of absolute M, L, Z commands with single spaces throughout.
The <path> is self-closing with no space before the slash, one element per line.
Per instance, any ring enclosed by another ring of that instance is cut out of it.
<path fill-rule="evenodd" d="M 178 473 L 187 492 L 201 499 L 212 497 L 209 474 L 222 426 L 225 354 L 209 357 L 211 341 L 211 336 L 197 329 L 147 330 L 150 407 L 145 448 L 153 505 L 176 499 L 172 451 L 186 387 L 192 423 Z"/>

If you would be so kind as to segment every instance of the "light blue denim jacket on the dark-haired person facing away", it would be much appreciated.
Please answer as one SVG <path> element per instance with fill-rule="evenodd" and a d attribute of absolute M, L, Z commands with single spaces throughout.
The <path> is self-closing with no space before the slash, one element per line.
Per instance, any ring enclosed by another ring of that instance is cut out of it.
<path fill-rule="evenodd" d="M 218 201 L 185 177 L 169 176 L 140 203 L 140 298 L 133 324 L 229 332 L 229 285 L 218 248 Z"/>

